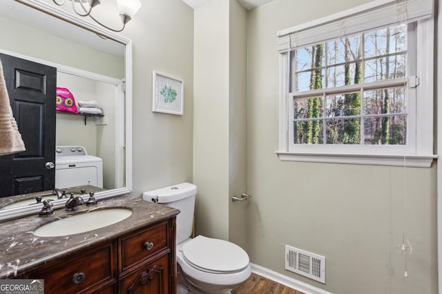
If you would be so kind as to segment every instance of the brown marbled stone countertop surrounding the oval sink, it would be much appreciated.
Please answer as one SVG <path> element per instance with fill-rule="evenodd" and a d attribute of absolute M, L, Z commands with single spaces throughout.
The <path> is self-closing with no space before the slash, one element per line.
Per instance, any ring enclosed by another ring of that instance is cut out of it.
<path fill-rule="evenodd" d="M 32 233 L 38 227 L 53 220 L 106 207 L 129 208 L 133 210 L 133 213 L 121 222 L 86 233 L 61 237 L 38 237 Z M 164 204 L 156 204 L 124 195 L 99 200 L 97 204 L 92 206 L 81 205 L 77 211 L 57 209 L 52 216 L 27 216 L 1 222 L 0 279 L 15 277 L 35 268 L 35 266 L 64 258 L 74 251 L 88 249 L 100 242 L 113 240 L 124 233 L 171 218 L 179 212 L 179 210 L 166 207 Z"/>

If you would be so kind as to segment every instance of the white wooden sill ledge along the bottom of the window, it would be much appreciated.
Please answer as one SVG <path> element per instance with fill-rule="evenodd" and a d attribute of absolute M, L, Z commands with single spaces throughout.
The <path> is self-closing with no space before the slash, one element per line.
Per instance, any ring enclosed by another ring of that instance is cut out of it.
<path fill-rule="evenodd" d="M 437 155 L 404 154 L 325 154 L 276 151 L 281 161 L 343 163 L 351 165 L 387 165 L 393 167 L 431 167 Z M 404 160 L 405 156 L 405 160 Z"/>

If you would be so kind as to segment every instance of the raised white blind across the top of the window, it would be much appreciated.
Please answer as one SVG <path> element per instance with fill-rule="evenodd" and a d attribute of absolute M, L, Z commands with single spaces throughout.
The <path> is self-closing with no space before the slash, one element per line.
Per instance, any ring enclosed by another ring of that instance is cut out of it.
<path fill-rule="evenodd" d="M 376 0 L 323 19 L 278 31 L 278 50 L 298 48 L 385 27 L 428 19 L 433 0 Z M 327 39 L 324 39 L 327 36 Z"/>

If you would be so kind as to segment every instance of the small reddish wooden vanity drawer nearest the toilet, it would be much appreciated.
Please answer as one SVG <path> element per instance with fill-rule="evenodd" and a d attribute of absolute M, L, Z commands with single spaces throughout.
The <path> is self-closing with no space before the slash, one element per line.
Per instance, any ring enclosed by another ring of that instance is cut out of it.
<path fill-rule="evenodd" d="M 168 223 L 161 222 L 149 229 L 137 231 L 120 238 L 120 272 L 146 261 L 163 249 L 167 250 L 169 245 L 167 228 Z"/>

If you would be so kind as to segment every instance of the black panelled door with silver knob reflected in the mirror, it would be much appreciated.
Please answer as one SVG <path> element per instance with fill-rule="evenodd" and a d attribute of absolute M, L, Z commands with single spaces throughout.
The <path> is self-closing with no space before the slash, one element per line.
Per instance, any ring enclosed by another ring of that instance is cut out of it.
<path fill-rule="evenodd" d="M 0 60 L 8 91 L 0 98 L 9 98 L 26 147 L 0 156 L 0 197 L 54 189 L 57 70 L 6 54 Z"/>

